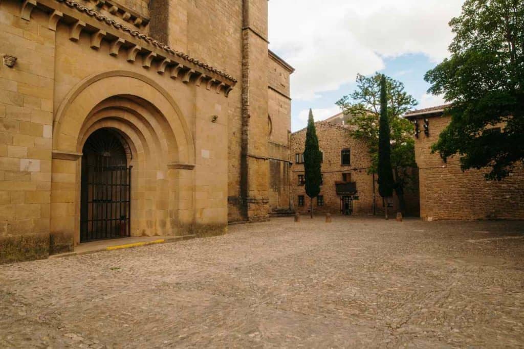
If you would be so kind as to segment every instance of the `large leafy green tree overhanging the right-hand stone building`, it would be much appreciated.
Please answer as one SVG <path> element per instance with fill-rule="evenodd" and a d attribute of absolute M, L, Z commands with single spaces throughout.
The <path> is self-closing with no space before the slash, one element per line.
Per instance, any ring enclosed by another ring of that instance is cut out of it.
<path fill-rule="evenodd" d="M 450 26 L 451 57 L 425 75 L 452 102 L 432 150 L 500 180 L 524 160 L 524 1 L 466 0 Z"/>

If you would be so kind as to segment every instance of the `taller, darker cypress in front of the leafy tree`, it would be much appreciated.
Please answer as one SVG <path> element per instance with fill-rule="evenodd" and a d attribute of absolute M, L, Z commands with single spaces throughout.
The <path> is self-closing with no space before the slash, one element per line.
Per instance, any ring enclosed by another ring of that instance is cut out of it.
<path fill-rule="evenodd" d="M 378 133 L 378 193 L 381 197 L 393 196 L 395 181 L 391 171 L 391 144 L 389 142 L 388 97 L 386 91 L 386 76 L 380 78 L 380 125 Z M 386 219 L 388 219 L 387 200 L 385 203 Z"/>

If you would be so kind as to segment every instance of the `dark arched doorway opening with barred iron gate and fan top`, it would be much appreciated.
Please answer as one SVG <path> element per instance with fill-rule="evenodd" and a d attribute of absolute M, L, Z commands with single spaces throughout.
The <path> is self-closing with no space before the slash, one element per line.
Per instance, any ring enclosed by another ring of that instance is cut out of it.
<path fill-rule="evenodd" d="M 131 169 L 123 138 L 112 129 L 91 134 L 82 150 L 80 242 L 130 236 Z M 128 149 L 128 147 L 127 147 Z"/>

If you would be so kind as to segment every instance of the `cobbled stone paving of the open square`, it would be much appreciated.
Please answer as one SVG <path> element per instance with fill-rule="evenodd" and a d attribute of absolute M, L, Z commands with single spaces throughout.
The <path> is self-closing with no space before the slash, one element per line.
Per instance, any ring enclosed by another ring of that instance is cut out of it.
<path fill-rule="evenodd" d="M 292 218 L 0 266 L 0 347 L 524 347 L 523 222 Z"/>

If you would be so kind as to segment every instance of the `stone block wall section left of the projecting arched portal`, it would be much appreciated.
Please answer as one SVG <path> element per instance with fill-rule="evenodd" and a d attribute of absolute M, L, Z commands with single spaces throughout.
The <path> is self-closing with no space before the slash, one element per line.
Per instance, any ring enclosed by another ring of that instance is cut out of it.
<path fill-rule="evenodd" d="M 35 16 L 0 3 L 0 53 L 17 58 L 0 58 L 0 263 L 49 253 L 54 33 Z"/>

